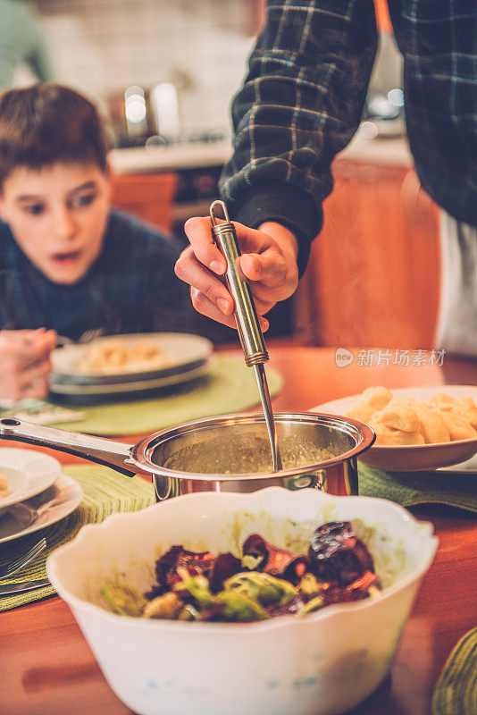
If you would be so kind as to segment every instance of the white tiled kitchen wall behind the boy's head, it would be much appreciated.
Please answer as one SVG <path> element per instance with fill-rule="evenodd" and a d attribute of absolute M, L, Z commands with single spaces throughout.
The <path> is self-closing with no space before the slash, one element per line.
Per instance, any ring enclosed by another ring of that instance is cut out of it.
<path fill-rule="evenodd" d="M 173 81 L 185 134 L 230 126 L 246 71 L 247 0 L 37 0 L 57 79 L 98 100 Z"/>

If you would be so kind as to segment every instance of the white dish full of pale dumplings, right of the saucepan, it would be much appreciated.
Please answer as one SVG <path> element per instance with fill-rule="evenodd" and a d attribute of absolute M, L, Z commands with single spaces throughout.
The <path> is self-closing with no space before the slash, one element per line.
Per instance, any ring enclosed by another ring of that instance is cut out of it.
<path fill-rule="evenodd" d="M 477 387 L 473 385 L 397 390 L 376 385 L 311 411 L 351 417 L 372 427 L 376 442 L 360 457 L 369 467 L 477 474 Z"/>

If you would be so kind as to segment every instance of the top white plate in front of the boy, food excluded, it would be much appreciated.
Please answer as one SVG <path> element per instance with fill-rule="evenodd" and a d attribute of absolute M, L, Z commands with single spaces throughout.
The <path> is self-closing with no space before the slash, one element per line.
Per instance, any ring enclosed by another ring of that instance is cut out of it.
<path fill-rule="evenodd" d="M 92 345 L 121 340 L 126 346 L 138 340 L 147 339 L 168 358 L 163 361 L 150 360 L 131 366 L 119 366 L 106 371 L 87 371 L 80 369 L 80 362 Z M 213 344 L 200 335 L 186 332 L 144 332 L 126 335 L 109 335 L 84 344 L 65 345 L 52 353 L 52 383 L 62 385 L 105 385 L 119 383 L 137 383 L 171 377 L 201 366 L 211 356 Z"/>

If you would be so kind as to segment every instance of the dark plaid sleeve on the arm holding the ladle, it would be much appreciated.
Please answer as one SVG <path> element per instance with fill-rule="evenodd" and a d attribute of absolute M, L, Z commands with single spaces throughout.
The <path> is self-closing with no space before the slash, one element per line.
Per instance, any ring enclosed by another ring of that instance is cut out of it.
<path fill-rule="evenodd" d="M 360 121 L 376 43 L 372 0 L 269 0 L 233 101 L 222 198 L 241 223 L 294 231 L 301 270 L 322 228 L 331 161 Z"/>

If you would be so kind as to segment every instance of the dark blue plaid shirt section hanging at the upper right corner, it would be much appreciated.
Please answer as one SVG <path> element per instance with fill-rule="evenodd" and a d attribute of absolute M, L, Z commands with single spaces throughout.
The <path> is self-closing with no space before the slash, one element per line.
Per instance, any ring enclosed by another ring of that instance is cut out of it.
<path fill-rule="evenodd" d="M 389 12 L 419 180 L 448 214 L 477 226 L 477 0 L 389 0 Z"/>

